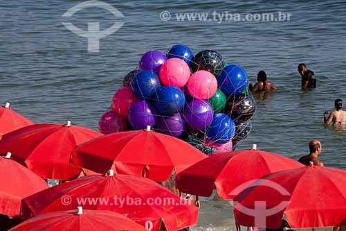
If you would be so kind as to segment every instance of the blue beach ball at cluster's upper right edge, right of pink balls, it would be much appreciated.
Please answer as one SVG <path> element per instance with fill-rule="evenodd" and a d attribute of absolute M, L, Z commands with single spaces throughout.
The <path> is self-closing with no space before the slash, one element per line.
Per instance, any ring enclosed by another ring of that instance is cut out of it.
<path fill-rule="evenodd" d="M 222 69 L 217 79 L 222 92 L 235 95 L 243 92 L 248 85 L 248 74 L 238 65 L 228 65 Z"/>

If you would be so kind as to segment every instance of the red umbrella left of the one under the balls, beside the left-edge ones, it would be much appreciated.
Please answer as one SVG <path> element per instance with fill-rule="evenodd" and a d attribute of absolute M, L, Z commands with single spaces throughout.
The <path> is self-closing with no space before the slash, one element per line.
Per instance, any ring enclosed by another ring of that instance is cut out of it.
<path fill-rule="evenodd" d="M 70 180 L 81 169 L 70 164 L 73 148 L 102 136 L 82 126 L 41 123 L 26 126 L 3 135 L 0 153 L 12 153 L 13 160 L 46 179 Z"/>

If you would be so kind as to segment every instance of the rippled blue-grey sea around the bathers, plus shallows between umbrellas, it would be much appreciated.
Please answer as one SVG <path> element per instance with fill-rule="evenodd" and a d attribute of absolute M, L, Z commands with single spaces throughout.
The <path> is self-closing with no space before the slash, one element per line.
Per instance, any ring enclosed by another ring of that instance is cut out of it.
<path fill-rule="evenodd" d="M 228 64 L 244 67 L 251 83 L 264 70 L 278 88 L 253 95 L 252 130 L 237 149 L 257 144 L 298 160 L 309 153 L 309 141 L 319 139 L 325 166 L 346 169 L 346 129 L 325 126 L 322 117 L 334 110 L 335 99 L 346 101 L 346 1 L 104 1 L 121 15 L 89 7 L 62 17 L 82 2 L 0 1 L 1 105 L 10 102 L 35 123 L 71 120 L 98 131 L 100 116 L 143 53 L 186 44 L 194 53 L 218 51 Z M 266 13 L 273 20 L 263 21 Z M 84 36 L 89 22 L 98 22 L 100 31 L 123 25 L 90 52 L 88 39 L 63 22 Z M 300 87 L 300 62 L 315 72 L 316 89 Z M 192 230 L 235 230 L 232 209 L 217 193 L 202 198 Z"/>

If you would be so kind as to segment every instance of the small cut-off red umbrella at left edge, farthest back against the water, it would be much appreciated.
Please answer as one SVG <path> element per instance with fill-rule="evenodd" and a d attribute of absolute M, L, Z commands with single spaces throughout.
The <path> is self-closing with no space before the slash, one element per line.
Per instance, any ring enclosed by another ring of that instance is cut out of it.
<path fill-rule="evenodd" d="M 10 108 L 10 103 L 0 107 L 0 140 L 3 134 L 35 124 Z"/>

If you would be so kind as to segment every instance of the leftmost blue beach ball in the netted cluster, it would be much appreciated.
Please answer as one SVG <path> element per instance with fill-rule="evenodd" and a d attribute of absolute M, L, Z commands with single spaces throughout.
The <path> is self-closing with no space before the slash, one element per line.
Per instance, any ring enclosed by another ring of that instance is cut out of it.
<path fill-rule="evenodd" d="M 153 71 L 139 71 L 131 81 L 132 92 L 140 100 L 151 99 L 160 87 L 160 80 Z"/>

